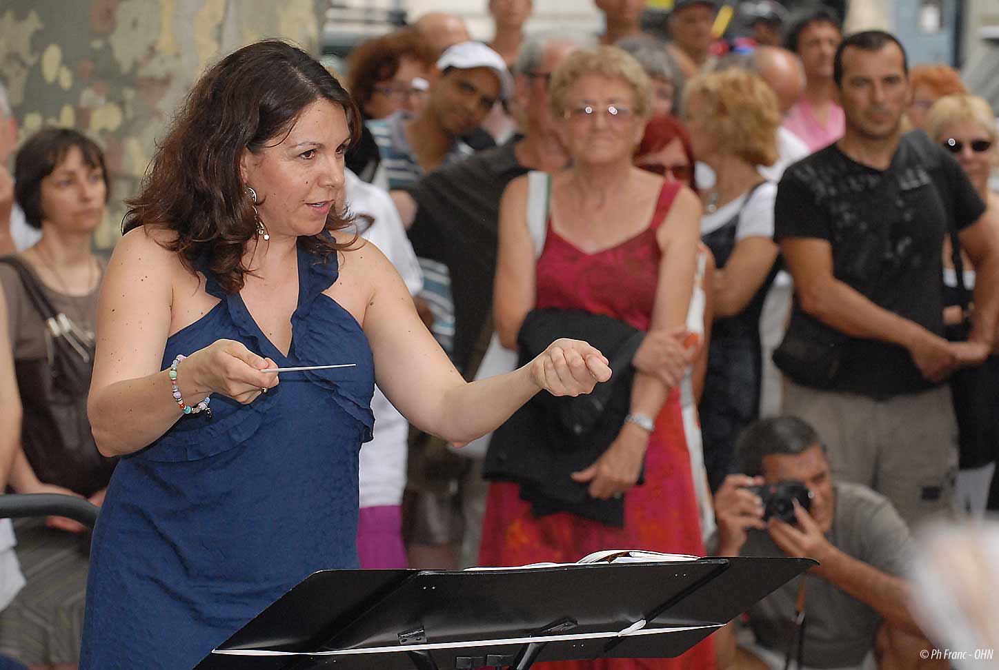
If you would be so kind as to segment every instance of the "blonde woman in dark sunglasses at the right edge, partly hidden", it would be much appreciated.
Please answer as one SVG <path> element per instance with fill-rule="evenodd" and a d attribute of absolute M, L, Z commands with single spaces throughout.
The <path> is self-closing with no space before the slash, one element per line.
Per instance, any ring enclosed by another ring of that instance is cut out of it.
<path fill-rule="evenodd" d="M 937 100 L 926 115 L 926 132 L 961 164 L 988 209 L 999 208 L 999 195 L 989 189 L 989 176 L 999 166 L 996 150 L 996 118 L 989 104 L 978 96 L 957 94 Z M 969 317 L 975 273 L 971 262 L 961 255 L 962 273 L 954 267 L 952 245 L 944 240 L 944 328 L 949 338 L 964 338 L 963 325 Z M 958 280 L 963 280 L 959 282 Z M 963 285 L 963 286 L 962 286 Z M 980 371 L 983 370 L 983 371 Z M 999 383 L 969 383 L 974 375 L 999 379 L 999 358 L 990 356 L 980 368 L 961 370 L 951 377 L 954 409 L 958 418 L 960 470 L 956 497 L 959 506 L 976 515 L 985 511 L 989 486 L 999 448 L 999 420 L 995 402 Z"/>

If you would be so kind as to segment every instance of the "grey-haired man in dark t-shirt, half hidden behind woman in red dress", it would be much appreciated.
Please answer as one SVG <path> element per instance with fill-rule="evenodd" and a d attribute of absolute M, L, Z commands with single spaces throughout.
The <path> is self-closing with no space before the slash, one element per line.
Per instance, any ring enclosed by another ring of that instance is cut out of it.
<path fill-rule="evenodd" d="M 548 106 L 548 81 L 566 55 L 593 43 L 591 38 L 574 33 L 542 33 L 528 38 L 518 52 L 511 106 L 523 134 L 432 172 L 408 193 L 393 192 L 417 255 L 442 263 L 450 271 L 455 305 L 452 359 L 469 379 L 475 378 L 493 332 L 490 313 L 500 198 L 514 178 L 530 170 L 558 170 L 567 163 L 557 121 Z M 452 491 L 452 486 L 411 486 L 417 500 L 410 533 L 413 567 L 476 562 L 488 491 L 481 462 L 467 461 L 466 474 L 457 486 L 460 502 L 454 493 L 435 492 Z M 411 483 L 418 479 L 419 475 L 411 476 Z M 453 553 L 458 543 L 461 558 Z"/>

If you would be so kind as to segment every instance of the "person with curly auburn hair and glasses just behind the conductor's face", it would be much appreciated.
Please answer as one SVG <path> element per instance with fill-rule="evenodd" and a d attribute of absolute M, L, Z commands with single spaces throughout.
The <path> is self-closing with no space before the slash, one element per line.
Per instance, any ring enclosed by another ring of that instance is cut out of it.
<path fill-rule="evenodd" d="M 347 88 L 361 116 L 385 119 L 396 112 L 418 114 L 427 105 L 430 81 L 437 75 L 437 55 L 413 29 L 397 30 L 368 40 L 351 53 Z M 375 179 L 381 157 L 365 125 L 347 154 L 347 167 L 366 182 Z"/>

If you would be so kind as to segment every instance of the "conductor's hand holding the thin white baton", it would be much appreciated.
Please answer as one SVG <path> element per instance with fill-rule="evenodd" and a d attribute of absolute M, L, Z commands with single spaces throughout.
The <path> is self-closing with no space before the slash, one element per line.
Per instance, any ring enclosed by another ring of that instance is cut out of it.
<path fill-rule="evenodd" d="M 260 371 L 277 366 L 274 360 L 257 355 L 243 342 L 217 339 L 178 365 L 178 381 L 183 392 L 184 377 L 190 375 L 198 392 L 221 393 L 249 404 L 265 388 L 278 385 L 277 372 Z"/>

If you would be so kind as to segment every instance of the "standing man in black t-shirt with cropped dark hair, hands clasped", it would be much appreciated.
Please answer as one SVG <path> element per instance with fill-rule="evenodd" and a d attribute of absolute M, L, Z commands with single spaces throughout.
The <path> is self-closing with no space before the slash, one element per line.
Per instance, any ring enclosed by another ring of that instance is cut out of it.
<path fill-rule="evenodd" d="M 784 412 L 826 436 L 837 478 L 883 493 L 911 525 L 950 505 L 957 429 L 941 382 L 992 348 L 999 222 L 946 152 L 903 136 L 910 91 L 894 37 L 845 39 L 834 79 L 843 139 L 788 168 L 777 192 L 774 235 L 796 300 L 774 359 L 790 385 Z M 979 277 L 961 343 L 942 336 L 949 230 Z"/>

